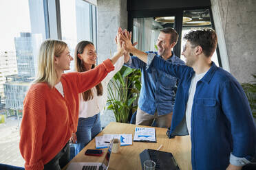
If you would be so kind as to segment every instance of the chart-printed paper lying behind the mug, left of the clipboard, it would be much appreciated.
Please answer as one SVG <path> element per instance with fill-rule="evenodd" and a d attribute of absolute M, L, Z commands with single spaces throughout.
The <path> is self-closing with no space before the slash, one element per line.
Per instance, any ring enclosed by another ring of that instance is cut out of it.
<path fill-rule="evenodd" d="M 96 136 L 96 149 L 107 148 L 113 138 L 119 138 L 121 146 L 132 145 L 132 134 L 104 134 Z"/>

